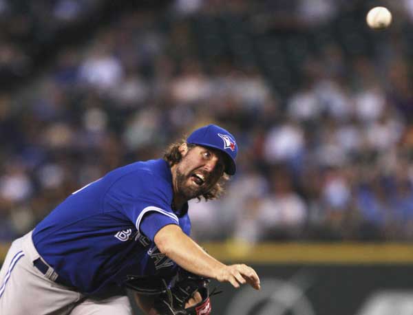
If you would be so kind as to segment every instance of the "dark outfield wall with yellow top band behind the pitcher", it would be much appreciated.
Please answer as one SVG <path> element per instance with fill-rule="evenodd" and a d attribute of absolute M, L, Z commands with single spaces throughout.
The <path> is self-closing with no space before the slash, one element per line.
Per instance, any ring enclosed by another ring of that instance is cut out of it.
<path fill-rule="evenodd" d="M 204 243 L 227 263 L 251 264 L 262 290 L 216 283 L 216 315 L 413 314 L 413 245 L 401 243 Z M 8 244 L 0 246 L 1 261 Z M 136 314 L 140 314 L 136 311 Z"/>

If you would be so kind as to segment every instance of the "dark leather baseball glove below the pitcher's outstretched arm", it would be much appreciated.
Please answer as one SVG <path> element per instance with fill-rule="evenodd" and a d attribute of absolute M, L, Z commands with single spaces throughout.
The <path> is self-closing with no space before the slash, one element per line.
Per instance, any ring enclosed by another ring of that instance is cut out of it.
<path fill-rule="evenodd" d="M 178 272 L 173 285 L 159 277 L 127 276 L 125 286 L 143 295 L 155 295 L 155 309 L 160 315 L 209 315 L 210 296 L 218 294 L 215 289 L 209 292 L 210 279 L 185 270 Z M 199 292 L 202 301 L 185 308 L 189 299 Z"/>

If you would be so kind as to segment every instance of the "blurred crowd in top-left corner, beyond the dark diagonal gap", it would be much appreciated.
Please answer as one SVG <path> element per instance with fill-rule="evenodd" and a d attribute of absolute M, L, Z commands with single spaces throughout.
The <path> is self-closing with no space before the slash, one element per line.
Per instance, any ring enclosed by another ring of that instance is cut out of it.
<path fill-rule="evenodd" d="M 8 90 L 37 71 L 58 47 L 59 36 L 88 21 L 105 0 L 0 0 L 0 89 Z M 79 36 L 77 36 L 79 37 Z"/>

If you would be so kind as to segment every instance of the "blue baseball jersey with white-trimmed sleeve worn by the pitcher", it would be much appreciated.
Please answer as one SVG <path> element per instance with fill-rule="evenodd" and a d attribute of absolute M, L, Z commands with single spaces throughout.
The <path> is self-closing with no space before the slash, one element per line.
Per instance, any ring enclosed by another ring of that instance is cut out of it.
<path fill-rule="evenodd" d="M 171 208 L 165 160 L 136 162 L 107 173 L 67 197 L 36 228 L 41 257 L 80 292 L 104 292 L 127 274 L 173 276 L 178 268 L 156 248 L 156 232 L 178 224 L 189 235 L 185 204 Z"/>

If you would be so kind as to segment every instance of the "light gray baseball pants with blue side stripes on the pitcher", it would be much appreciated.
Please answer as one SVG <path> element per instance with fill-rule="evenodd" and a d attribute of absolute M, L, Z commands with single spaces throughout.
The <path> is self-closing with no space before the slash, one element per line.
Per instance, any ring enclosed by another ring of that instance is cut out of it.
<path fill-rule="evenodd" d="M 0 270 L 0 314 L 4 315 L 131 315 L 127 296 L 90 298 L 52 279 L 49 267 L 43 274 L 33 265 L 39 253 L 32 232 L 15 240 Z"/>

